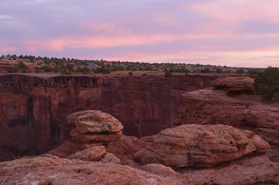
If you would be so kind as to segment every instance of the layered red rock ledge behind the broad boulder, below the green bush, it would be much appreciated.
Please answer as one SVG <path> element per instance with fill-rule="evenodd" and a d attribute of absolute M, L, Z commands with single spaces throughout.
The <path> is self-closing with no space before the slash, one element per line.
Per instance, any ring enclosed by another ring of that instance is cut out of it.
<path fill-rule="evenodd" d="M 271 159 L 279 159 L 274 152 L 279 146 L 279 106 L 265 104 L 253 95 L 228 97 L 222 90 L 185 93 L 176 124 L 229 124 L 248 129 L 271 145 Z"/>

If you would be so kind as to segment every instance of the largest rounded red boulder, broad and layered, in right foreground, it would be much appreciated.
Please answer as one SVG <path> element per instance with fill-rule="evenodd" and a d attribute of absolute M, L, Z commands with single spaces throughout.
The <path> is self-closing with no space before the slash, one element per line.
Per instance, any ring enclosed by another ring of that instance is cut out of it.
<path fill-rule="evenodd" d="M 135 154 L 135 160 L 174 167 L 209 167 L 269 149 L 269 144 L 251 131 L 222 124 L 184 124 L 160 131 L 150 145 Z"/>

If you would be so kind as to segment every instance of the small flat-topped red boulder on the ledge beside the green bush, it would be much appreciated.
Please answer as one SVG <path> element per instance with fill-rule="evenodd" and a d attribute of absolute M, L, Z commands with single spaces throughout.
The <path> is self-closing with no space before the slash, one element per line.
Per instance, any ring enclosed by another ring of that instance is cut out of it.
<path fill-rule="evenodd" d="M 254 79 L 250 77 L 225 77 L 212 83 L 213 90 L 225 90 L 228 93 L 251 93 Z"/>

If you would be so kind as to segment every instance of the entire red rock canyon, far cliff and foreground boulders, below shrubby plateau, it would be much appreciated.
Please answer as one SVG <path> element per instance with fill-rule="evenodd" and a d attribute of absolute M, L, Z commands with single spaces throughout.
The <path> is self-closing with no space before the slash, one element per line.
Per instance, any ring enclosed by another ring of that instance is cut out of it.
<path fill-rule="evenodd" d="M 0 184 L 279 184 L 279 106 L 253 83 L 2 74 Z"/>

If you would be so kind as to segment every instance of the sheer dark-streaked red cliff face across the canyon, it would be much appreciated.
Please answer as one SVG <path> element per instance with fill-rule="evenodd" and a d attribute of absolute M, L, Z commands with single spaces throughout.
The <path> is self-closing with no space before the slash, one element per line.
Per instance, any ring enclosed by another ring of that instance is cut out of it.
<path fill-rule="evenodd" d="M 61 143 L 70 131 L 66 116 L 82 110 L 111 113 L 129 136 L 157 134 L 173 126 L 182 93 L 207 88 L 216 78 L 2 74 L 0 160 Z"/>

